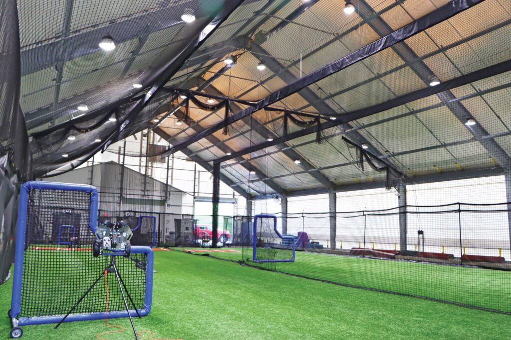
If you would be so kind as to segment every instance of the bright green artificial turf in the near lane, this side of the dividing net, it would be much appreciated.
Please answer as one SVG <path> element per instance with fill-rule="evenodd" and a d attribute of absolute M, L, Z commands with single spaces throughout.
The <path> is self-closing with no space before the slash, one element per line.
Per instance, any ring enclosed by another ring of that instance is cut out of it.
<path fill-rule="evenodd" d="M 381 261 L 379 261 L 381 262 Z M 423 299 L 343 287 L 179 251 L 155 252 L 153 309 L 135 319 L 155 338 L 508 338 L 511 317 Z M 0 285 L 0 338 L 11 282 Z M 124 334 L 108 339 L 130 339 Z M 103 321 L 25 326 L 24 339 L 94 339 Z"/>

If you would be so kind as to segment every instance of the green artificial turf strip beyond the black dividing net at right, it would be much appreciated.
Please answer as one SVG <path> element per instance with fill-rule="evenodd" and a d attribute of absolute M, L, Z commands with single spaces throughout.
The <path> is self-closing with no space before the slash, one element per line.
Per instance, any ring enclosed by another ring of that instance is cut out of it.
<path fill-rule="evenodd" d="M 176 248 L 178 249 L 183 250 L 183 248 Z M 241 248 L 225 249 L 240 252 L 211 252 L 210 254 L 222 259 L 242 259 Z M 251 249 L 245 252 L 245 256 L 251 259 Z M 251 264 L 346 285 L 511 312 L 511 287 L 509 286 L 511 272 L 504 270 L 304 251 L 296 252 L 294 262 Z"/>

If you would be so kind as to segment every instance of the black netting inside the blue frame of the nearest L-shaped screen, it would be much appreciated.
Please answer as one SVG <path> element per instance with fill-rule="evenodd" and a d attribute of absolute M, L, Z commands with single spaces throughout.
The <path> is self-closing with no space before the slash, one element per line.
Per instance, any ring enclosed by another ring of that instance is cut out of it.
<path fill-rule="evenodd" d="M 90 194 L 31 190 L 21 285 L 21 317 L 65 315 L 110 263 L 92 256 Z M 146 254 L 118 257 L 117 267 L 137 309 L 144 307 Z M 121 291 L 108 276 L 109 310 L 124 310 Z M 74 313 L 105 310 L 106 287 L 99 282 Z"/>

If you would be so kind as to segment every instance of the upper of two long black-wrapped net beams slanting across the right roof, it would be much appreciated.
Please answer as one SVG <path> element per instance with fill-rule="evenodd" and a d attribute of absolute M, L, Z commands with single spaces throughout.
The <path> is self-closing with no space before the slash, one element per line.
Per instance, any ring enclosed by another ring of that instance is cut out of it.
<path fill-rule="evenodd" d="M 188 145 L 204 138 L 207 135 L 211 135 L 215 133 L 216 131 L 220 130 L 225 126 L 225 124 L 231 124 L 234 123 L 241 118 L 251 115 L 253 112 L 261 110 L 268 106 L 269 104 L 272 104 L 276 101 L 282 100 L 283 98 L 288 97 L 289 95 L 296 93 L 297 91 L 312 85 L 325 77 L 334 74 L 341 69 L 344 69 L 350 65 L 355 64 L 356 62 L 363 60 L 369 56 L 372 56 L 379 52 L 380 50 L 383 50 L 389 46 L 392 46 L 395 43 L 398 43 L 400 41 L 403 41 L 412 35 L 415 35 L 419 32 L 422 32 L 433 25 L 442 22 L 453 15 L 456 15 L 457 13 L 460 13 L 478 3 L 480 3 L 482 0 L 452 0 L 447 5 L 440 7 L 439 9 L 436 9 L 435 11 L 428 13 L 424 15 L 423 17 L 415 20 L 414 22 L 406 25 L 405 27 L 396 30 L 392 32 L 391 34 L 382 37 L 381 39 L 378 39 L 377 41 L 370 43 L 361 49 L 355 51 L 354 53 L 347 55 L 346 57 L 343 57 L 339 59 L 338 61 L 327 65 L 325 67 L 322 67 L 321 69 L 312 72 L 306 76 L 304 76 L 302 79 L 300 79 L 299 82 L 295 82 L 293 84 L 284 86 L 282 89 L 270 94 L 266 98 L 260 100 L 255 107 L 247 108 L 237 114 L 231 115 L 226 122 L 221 121 L 218 124 L 212 126 L 211 128 L 208 128 L 204 130 L 204 132 L 199 133 L 195 136 L 191 136 L 187 141 L 184 141 L 173 148 L 169 149 L 164 155 L 167 156 L 169 154 L 172 154 L 173 152 L 179 151 L 179 149 L 183 147 L 187 147 Z"/>

